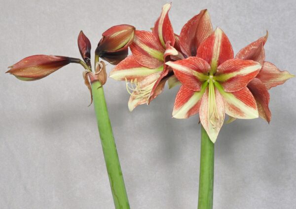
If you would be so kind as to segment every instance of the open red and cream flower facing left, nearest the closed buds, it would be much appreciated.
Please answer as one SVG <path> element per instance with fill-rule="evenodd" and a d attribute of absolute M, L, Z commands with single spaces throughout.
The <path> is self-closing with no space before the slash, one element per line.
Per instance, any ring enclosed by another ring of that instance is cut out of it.
<path fill-rule="evenodd" d="M 127 85 L 131 96 L 129 110 L 136 106 L 149 103 L 160 94 L 167 79 L 173 75 L 164 63 L 170 55 L 178 55 L 172 47 L 175 35 L 168 12 L 171 4 L 162 7 L 160 17 L 156 20 L 151 32 L 135 31 L 134 41 L 130 45 L 132 55 L 120 62 L 110 73 L 110 77 L 118 81 L 130 82 Z"/>

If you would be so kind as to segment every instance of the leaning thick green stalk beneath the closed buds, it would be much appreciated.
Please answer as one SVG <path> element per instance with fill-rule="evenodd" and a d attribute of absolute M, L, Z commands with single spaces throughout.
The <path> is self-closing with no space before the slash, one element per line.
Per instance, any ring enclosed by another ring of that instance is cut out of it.
<path fill-rule="evenodd" d="M 91 84 L 91 89 L 115 209 L 130 209 L 103 86 L 101 86 L 100 82 L 96 81 Z"/>

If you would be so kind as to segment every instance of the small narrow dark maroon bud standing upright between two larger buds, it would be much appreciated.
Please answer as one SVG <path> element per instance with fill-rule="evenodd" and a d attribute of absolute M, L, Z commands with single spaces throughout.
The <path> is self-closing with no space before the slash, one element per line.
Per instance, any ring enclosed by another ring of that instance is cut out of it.
<path fill-rule="evenodd" d="M 80 31 L 78 36 L 78 48 L 81 54 L 81 57 L 83 58 L 84 62 L 91 68 L 90 64 L 90 49 L 91 44 L 88 40 L 88 38 L 84 35 L 82 31 Z"/>

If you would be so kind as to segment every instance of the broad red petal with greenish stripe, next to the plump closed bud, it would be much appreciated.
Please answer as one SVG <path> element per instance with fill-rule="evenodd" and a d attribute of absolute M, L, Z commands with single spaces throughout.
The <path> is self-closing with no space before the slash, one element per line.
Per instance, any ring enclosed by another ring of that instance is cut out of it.
<path fill-rule="evenodd" d="M 155 69 L 163 65 L 165 50 L 151 32 L 136 30 L 130 49 L 137 62 L 145 67 Z"/>

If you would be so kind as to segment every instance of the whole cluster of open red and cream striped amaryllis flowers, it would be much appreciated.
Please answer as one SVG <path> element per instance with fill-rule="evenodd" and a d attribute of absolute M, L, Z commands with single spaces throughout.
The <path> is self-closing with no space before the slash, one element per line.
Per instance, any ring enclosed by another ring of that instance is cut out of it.
<path fill-rule="evenodd" d="M 162 7 L 152 32 L 135 30 L 129 45 L 132 55 L 111 71 L 110 77 L 127 82 L 128 107 L 149 104 L 164 89 L 181 83 L 173 117 L 185 119 L 199 113 L 213 142 L 225 113 L 234 119 L 261 117 L 268 123 L 268 90 L 294 77 L 265 61 L 267 35 L 234 52 L 225 33 L 213 31 L 207 10 L 201 10 L 174 34 L 168 12 Z M 130 83 L 130 84 L 129 84 Z"/>

